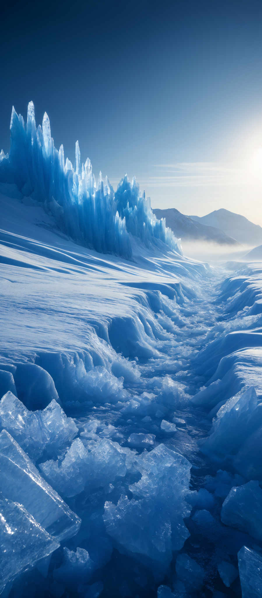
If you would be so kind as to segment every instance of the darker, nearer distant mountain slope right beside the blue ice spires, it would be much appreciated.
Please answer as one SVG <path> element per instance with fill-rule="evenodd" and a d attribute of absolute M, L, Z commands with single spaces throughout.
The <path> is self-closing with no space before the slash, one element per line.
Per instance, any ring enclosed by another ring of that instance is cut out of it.
<path fill-rule="evenodd" d="M 227 236 L 223 230 L 199 222 L 196 219 L 197 216 L 185 216 L 175 208 L 155 209 L 153 213 L 159 219 L 165 218 L 167 226 L 171 228 L 175 236 L 184 241 L 205 240 L 219 243 L 219 245 L 238 245 L 238 242 Z"/>

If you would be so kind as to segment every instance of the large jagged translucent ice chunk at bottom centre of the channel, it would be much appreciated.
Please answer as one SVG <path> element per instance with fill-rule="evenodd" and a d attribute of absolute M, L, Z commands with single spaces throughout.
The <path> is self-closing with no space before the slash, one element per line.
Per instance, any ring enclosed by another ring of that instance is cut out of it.
<path fill-rule="evenodd" d="M 190 513 L 184 499 L 190 463 L 160 444 L 137 457 L 136 467 L 141 480 L 129 486 L 136 500 L 121 496 L 117 505 L 104 505 L 107 533 L 126 551 L 167 566 L 171 551 L 180 550 L 189 537 L 183 519 Z"/>

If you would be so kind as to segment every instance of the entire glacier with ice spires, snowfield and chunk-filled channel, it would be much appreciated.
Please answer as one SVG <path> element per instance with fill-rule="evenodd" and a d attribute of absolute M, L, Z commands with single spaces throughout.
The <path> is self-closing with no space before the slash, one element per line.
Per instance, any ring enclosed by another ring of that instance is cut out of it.
<path fill-rule="evenodd" d="M 0 162 L 0 593 L 261 595 L 262 266 L 13 111 Z"/>

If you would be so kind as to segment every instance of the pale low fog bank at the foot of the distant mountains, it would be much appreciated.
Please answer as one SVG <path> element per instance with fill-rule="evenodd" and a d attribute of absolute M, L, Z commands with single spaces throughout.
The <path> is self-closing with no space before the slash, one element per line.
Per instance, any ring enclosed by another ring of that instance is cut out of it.
<path fill-rule="evenodd" d="M 225 260 L 243 260 L 254 245 L 219 245 L 208 241 L 181 241 L 184 256 L 195 260 L 212 262 Z"/>

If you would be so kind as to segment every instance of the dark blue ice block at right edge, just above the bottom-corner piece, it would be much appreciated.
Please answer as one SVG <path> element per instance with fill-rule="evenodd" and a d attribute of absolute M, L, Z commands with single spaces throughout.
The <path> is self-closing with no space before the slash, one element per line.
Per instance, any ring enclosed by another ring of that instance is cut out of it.
<path fill-rule="evenodd" d="M 222 505 L 221 521 L 262 540 L 262 490 L 258 481 L 230 490 Z"/>

